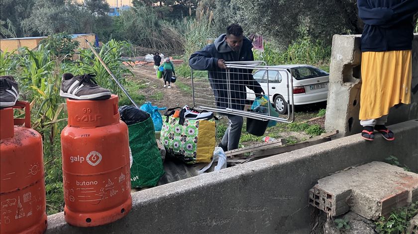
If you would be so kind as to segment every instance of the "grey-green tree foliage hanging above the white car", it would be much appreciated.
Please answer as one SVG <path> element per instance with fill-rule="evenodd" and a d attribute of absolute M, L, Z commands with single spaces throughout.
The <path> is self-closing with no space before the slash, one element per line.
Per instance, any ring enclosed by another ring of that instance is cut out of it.
<path fill-rule="evenodd" d="M 308 32 L 330 44 L 333 34 L 358 32 L 356 0 L 231 0 L 232 21 L 282 48 Z M 332 10 L 331 10 L 332 9 Z M 216 18 L 215 18 L 216 20 Z"/>

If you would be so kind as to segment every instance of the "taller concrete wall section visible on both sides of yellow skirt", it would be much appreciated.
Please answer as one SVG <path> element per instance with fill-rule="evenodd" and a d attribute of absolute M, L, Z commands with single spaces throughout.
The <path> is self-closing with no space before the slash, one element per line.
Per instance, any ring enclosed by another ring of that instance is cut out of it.
<path fill-rule="evenodd" d="M 338 137 L 361 132 L 358 119 L 361 89 L 361 35 L 334 35 L 325 130 L 339 130 Z M 390 110 L 388 125 L 418 118 L 418 34 L 413 41 L 413 78 L 410 105 Z"/>

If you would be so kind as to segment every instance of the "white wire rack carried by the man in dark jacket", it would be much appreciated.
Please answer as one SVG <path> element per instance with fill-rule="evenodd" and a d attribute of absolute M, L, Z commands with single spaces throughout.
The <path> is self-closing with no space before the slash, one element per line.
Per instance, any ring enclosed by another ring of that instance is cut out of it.
<path fill-rule="evenodd" d="M 285 68 L 266 66 L 263 61 L 225 62 L 225 65 L 227 69 L 210 70 L 207 77 L 192 70 L 194 108 L 258 120 L 294 121 L 290 105 L 293 79 Z M 252 109 L 256 99 L 257 108 Z"/>

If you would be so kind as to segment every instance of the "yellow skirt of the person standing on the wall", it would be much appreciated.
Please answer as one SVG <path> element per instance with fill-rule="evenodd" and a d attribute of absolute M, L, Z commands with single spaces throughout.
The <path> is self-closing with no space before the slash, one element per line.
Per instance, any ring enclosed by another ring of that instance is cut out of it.
<path fill-rule="evenodd" d="M 399 103 L 411 102 L 411 50 L 363 52 L 360 120 L 389 114 Z"/>

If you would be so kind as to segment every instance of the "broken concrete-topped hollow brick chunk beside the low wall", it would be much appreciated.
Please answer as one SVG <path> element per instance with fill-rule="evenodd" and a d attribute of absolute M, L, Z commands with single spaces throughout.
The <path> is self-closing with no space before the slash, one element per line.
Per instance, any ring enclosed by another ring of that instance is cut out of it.
<path fill-rule="evenodd" d="M 318 180 L 309 191 L 309 203 L 331 216 L 351 210 L 377 220 L 416 201 L 417 190 L 418 174 L 374 161 Z"/>

